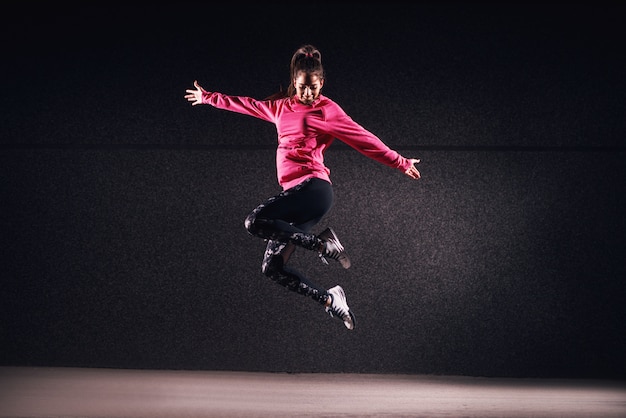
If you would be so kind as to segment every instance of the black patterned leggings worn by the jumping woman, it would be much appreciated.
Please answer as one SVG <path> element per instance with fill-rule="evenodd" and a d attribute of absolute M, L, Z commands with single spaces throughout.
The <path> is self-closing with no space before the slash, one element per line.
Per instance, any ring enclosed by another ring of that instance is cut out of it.
<path fill-rule="evenodd" d="M 257 206 L 244 222 L 251 235 L 266 239 L 261 271 L 281 286 L 326 303 L 328 293 L 298 271 L 286 267 L 296 246 L 318 250 L 320 240 L 309 233 L 333 204 L 327 181 L 310 178 Z"/>

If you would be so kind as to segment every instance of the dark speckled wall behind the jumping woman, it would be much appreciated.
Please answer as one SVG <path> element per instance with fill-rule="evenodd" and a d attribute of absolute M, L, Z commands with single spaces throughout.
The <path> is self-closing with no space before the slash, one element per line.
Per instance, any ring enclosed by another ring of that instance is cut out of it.
<path fill-rule="evenodd" d="M 615 7 L 47 7 L 3 17 L 3 365 L 626 377 Z M 260 273 L 274 127 L 183 98 L 265 97 L 309 42 L 324 93 L 422 159 L 326 155 L 353 267 L 293 264 L 352 332 Z"/>

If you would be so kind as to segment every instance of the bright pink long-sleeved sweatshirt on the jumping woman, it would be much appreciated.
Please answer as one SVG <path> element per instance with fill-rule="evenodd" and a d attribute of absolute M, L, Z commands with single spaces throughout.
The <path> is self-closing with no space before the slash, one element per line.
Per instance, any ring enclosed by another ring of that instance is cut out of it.
<path fill-rule="evenodd" d="M 406 171 L 407 158 L 390 149 L 377 136 L 354 122 L 334 101 L 320 95 L 311 105 L 295 97 L 255 100 L 205 92 L 202 103 L 272 122 L 278 132 L 276 172 L 278 183 L 289 189 L 310 177 L 330 182 L 324 152 L 335 138 L 380 163 Z"/>

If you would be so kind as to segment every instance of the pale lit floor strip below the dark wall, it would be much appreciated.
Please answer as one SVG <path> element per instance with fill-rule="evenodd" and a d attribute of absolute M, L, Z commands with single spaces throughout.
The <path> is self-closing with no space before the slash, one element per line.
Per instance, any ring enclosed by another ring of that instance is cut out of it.
<path fill-rule="evenodd" d="M 0 367 L 0 417 L 626 417 L 626 382 Z"/>

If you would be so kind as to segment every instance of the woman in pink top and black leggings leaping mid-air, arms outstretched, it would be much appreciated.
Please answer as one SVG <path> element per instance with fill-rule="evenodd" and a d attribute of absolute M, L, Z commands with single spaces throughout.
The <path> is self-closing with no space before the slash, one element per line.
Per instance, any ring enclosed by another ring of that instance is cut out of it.
<path fill-rule="evenodd" d="M 296 247 L 318 252 L 323 262 L 334 259 L 350 267 L 343 245 L 332 228 L 316 235 L 311 229 L 330 210 L 333 189 L 324 152 L 335 138 L 369 158 L 402 170 L 413 179 L 418 159 L 391 150 L 378 137 L 354 122 L 343 109 L 321 94 L 324 68 L 320 51 L 300 47 L 291 59 L 290 84 L 265 100 L 209 92 L 194 81 L 185 98 L 195 105 L 211 105 L 271 122 L 278 132 L 276 169 L 282 192 L 256 207 L 246 218 L 247 231 L 267 240 L 261 271 L 278 284 L 322 304 L 331 317 L 354 329 L 355 316 L 337 285 L 325 289 L 287 267 Z"/>

